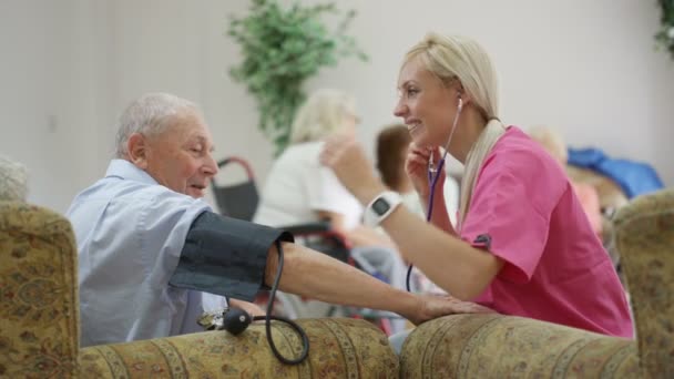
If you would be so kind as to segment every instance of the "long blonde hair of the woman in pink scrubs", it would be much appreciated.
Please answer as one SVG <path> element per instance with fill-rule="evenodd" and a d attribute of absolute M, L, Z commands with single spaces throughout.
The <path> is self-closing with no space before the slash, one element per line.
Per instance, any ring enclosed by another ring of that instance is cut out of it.
<path fill-rule="evenodd" d="M 459 80 L 463 92 L 470 95 L 472 105 L 488 121 L 466 158 L 459 207 L 460 219 L 463 224 L 470 207 L 478 172 L 504 132 L 503 124 L 498 116 L 497 73 L 484 49 L 474 40 L 460 35 L 430 32 L 407 52 L 402 66 L 413 59 L 418 59 L 446 85 Z"/>

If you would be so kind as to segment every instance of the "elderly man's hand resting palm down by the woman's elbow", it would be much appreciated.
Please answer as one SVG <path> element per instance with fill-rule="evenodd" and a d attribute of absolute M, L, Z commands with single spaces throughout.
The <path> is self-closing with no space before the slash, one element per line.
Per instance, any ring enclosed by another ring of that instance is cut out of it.
<path fill-rule="evenodd" d="M 433 318 L 455 314 L 494 314 L 493 309 L 477 303 L 461 301 L 449 295 L 420 295 L 422 306 L 409 320 L 419 325 Z"/>

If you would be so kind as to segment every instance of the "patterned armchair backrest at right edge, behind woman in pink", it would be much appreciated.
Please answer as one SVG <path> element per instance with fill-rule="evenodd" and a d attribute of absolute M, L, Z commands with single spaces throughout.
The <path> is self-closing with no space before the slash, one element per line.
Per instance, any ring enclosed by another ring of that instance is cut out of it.
<path fill-rule="evenodd" d="M 640 196 L 614 217 L 645 373 L 674 378 L 674 188 Z"/>

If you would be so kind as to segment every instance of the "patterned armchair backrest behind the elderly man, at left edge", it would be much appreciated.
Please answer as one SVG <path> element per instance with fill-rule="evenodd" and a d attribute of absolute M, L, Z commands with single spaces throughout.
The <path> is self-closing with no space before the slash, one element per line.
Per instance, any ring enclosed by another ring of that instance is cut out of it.
<path fill-rule="evenodd" d="M 0 377 L 75 376 L 75 252 L 65 217 L 25 203 L 0 202 Z"/>

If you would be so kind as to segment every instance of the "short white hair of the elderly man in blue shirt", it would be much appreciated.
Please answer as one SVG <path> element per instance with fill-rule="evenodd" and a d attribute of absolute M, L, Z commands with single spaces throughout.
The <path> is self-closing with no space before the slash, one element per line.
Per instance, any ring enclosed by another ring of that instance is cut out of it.
<path fill-rule="evenodd" d="M 172 117 L 185 111 L 197 111 L 188 100 L 170 93 L 146 93 L 133 101 L 120 116 L 115 139 L 115 156 L 123 158 L 129 153 L 126 145 L 134 133 L 144 135 L 161 134 L 171 125 Z"/>

